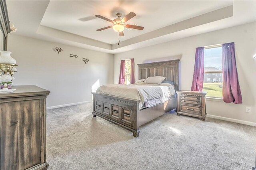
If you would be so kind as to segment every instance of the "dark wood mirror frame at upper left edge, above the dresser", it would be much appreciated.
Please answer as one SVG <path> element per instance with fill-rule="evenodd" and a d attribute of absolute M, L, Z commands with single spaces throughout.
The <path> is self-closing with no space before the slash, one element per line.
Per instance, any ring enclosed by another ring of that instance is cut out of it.
<path fill-rule="evenodd" d="M 0 0 L 0 29 L 0 50 L 7 51 L 7 36 L 11 31 L 5 0 Z"/>

